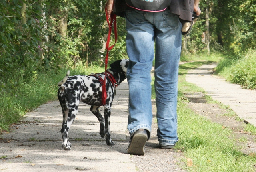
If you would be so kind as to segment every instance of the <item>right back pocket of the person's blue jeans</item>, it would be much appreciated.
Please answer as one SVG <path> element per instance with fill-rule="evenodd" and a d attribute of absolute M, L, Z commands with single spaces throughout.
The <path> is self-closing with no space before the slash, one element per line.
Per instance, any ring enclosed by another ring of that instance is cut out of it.
<path fill-rule="evenodd" d="M 163 12 L 164 27 L 175 30 L 179 26 L 179 16 L 177 14 L 170 13 L 169 10 Z"/>

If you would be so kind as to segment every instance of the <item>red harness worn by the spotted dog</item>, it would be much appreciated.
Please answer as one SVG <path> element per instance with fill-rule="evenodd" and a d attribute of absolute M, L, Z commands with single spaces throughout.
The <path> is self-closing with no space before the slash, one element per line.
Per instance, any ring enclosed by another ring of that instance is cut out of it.
<path fill-rule="evenodd" d="M 103 80 L 102 77 L 100 77 L 99 74 L 105 75 L 105 79 Z M 109 72 L 106 73 L 95 73 L 95 74 L 91 74 L 89 76 L 94 76 L 96 77 L 99 81 L 100 81 L 100 85 L 102 86 L 102 101 L 101 101 L 101 105 L 106 105 L 106 99 L 107 99 L 107 92 L 106 92 L 106 85 L 104 84 L 106 81 L 106 77 L 108 77 L 108 79 L 111 81 L 114 90 L 116 90 L 116 87 L 118 86 L 116 79 L 113 77 L 113 75 Z M 103 88 L 105 86 L 105 88 Z"/>

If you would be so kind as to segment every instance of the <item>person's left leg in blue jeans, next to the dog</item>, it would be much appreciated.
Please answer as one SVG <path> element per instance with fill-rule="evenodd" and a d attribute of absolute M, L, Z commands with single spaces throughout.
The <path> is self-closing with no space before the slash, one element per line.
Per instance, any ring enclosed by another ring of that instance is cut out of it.
<path fill-rule="evenodd" d="M 130 136 L 138 129 L 146 129 L 150 136 L 152 124 L 150 71 L 154 59 L 154 26 L 145 16 L 145 12 L 138 10 L 125 12 L 126 49 L 130 59 L 127 69 L 129 84 L 127 128 Z"/>

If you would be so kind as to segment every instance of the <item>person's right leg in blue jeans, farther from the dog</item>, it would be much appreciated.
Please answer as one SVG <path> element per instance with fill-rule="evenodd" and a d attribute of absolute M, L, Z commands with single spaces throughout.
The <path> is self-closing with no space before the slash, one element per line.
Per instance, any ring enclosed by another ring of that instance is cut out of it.
<path fill-rule="evenodd" d="M 155 90 L 161 148 L 177 141 L 178 66 L 181 51 L 181 24 L 169 10 L 156 16 Z M 167 148 L 167 147 L 166 147 Z"/>

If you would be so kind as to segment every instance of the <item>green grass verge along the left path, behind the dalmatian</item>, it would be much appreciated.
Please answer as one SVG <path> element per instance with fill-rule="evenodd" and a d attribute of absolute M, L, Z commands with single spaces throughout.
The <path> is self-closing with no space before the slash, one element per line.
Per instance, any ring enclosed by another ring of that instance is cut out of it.
<path fill-rule="evenodd" d="M 7 81 L 0 80 L 0 132 L 8 130 L 10 124 L 19 122 L 32 109 L 47 101 L 56 100 L 57 83 L 66 75 L 67 70 L 62 69 L 60 73 L 34 73 L 29 81 L 22 75 L 12 76 Z M 71 69 L 70 75 L 88 75 L 102 71 L 103 67 L 78 67 Z"/>

